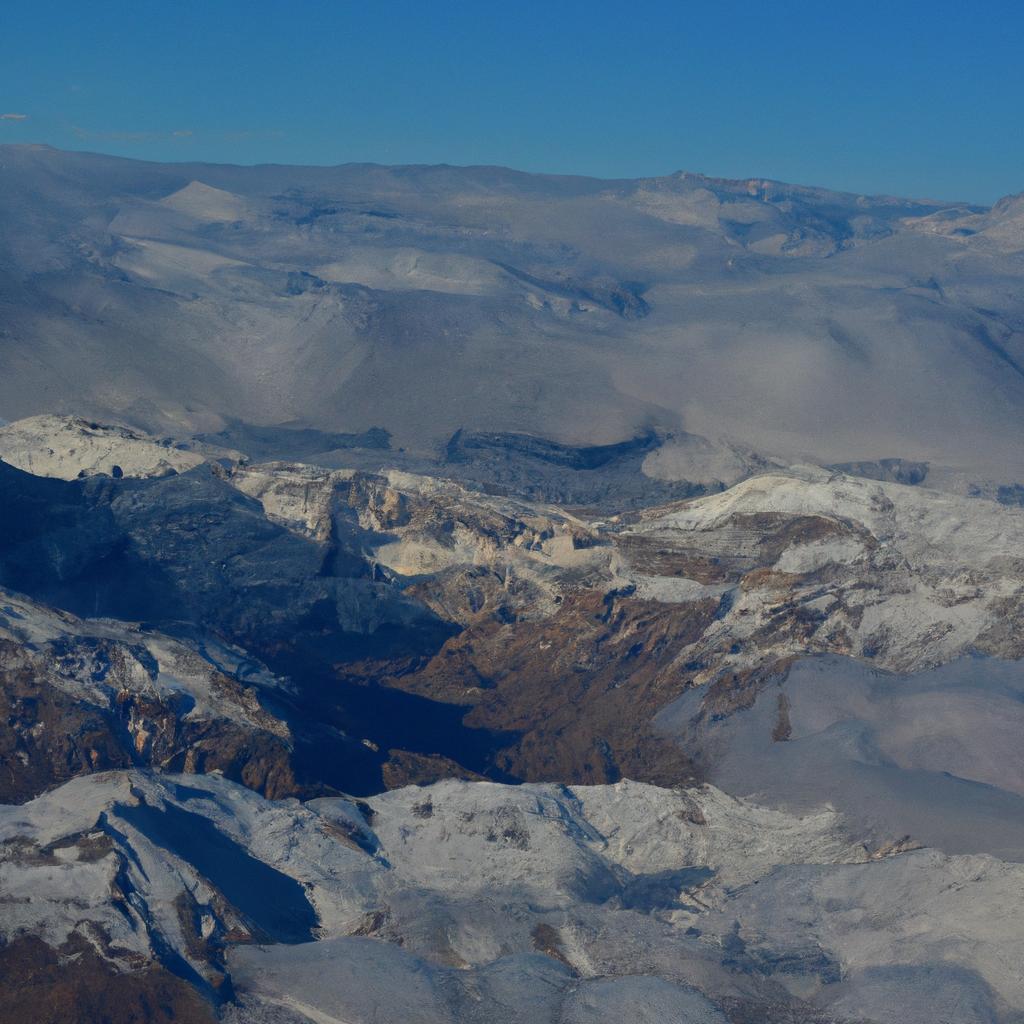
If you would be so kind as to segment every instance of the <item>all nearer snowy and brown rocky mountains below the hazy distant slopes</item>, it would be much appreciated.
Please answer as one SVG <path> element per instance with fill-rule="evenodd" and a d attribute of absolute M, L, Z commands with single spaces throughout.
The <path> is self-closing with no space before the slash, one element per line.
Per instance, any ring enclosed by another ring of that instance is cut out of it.
<path fill-rule="evenodd" d="M 1024 1017 L 1019 508 L 0 445 L 0 1020 Z"/>

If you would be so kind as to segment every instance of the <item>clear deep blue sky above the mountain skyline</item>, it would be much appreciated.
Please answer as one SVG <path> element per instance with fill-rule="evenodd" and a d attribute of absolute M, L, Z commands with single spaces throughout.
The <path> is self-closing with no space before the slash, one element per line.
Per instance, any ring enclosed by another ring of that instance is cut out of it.
<path fill-rule="evenodd" d="M 1024 190 L 1024 3 L 0 0 L 0 142 Z"/>

